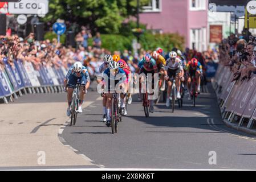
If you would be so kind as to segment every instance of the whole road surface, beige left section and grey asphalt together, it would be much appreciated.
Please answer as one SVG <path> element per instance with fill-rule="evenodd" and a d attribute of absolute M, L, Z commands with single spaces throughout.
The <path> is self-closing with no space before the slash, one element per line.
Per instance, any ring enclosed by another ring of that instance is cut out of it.
<path fill-rule="evenodd" d="M 75 126 L 65 93 L 0 105 L 0 169 L 256 169 L 255 136 L 224 125 L 211 84 L 196 107 L 185 99 L 171 113 L 161 102 L 149 118 L 134 95 L 116 134 L 101 122 L 99 94 L 86 97 Z"/>

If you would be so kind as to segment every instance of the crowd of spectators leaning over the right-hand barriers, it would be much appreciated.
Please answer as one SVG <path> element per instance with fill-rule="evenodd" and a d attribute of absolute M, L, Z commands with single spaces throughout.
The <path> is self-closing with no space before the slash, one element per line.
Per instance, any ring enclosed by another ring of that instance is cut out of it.
<path fill-rule="evenodd" d="M 243 36 L 230 34 L 229 38 L 220 44 L 220 63 L 229 66 L 233 80 L 249 79 L 256 74 L 256 39 L 249 34 L 246 40 Z"/>

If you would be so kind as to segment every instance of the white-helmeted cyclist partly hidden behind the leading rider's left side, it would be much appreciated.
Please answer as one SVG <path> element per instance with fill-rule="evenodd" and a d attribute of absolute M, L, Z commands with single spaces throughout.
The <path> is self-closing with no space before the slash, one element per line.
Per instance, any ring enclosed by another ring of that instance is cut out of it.
<path fill-rule="evenodd" d="M 99 68 L 99 73 L 103 74 L 103 72 L 108 68 L 108 64 L 113 61 L 113 57 L 111 55 L 105 55 L 103 58 L 104 63 L 100 65 Z M 100 84 L 101 83 L 101 77 L 100 79 L 97 79 L 97 83 Z M 102 100 L 102 105 L 103 105 L 103 122 L 107 121 L 107 109 L 106 109 L 106 103 L 107 103 L 107 97 L 105 96 L 105 94 L 101 94 L 101 96 L 103 97 Z"/>

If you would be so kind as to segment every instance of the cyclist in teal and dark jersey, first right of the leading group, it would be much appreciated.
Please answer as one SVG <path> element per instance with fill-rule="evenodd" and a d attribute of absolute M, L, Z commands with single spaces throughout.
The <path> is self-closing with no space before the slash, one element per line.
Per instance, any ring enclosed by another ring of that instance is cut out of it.
<path fill-rule="evenodd" d="M 139 62 L 136 73 L 139 73 L 139 75 L 141 73 L 144 73 L 146 76 L 148 75 L 148 73 L 152 74 L 152 85 L 154 85 L 153 74 L 157 73 L 156 60 L 153 59 L 153 57 L 151 57 L 151 55 L 149 55 L 149 53 L 147 53 L 143 57 L 143 59 Z M 141 93 L 141 79 L 140 79 L 140 89 L 139 90 Z M 153 95 L 153 94 L 154 93 L 152 93 L 151 95 Z M 140 94 L 139 94 L 138 100 L 141 101 Z M 151 113 L 153 113 L 154 112 L 154 100 L 149 100 L 149 101 L 150 101 L 150 110 L 151 110 Z"/>

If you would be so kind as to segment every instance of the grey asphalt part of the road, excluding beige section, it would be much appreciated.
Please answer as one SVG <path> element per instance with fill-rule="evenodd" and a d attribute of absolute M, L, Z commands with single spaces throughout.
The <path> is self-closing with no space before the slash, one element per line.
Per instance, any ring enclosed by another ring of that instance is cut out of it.
<path fill-rule="evenodd" d="M 255 136 L 226 127 L 212 85 L 208 90 L 196 107 L 185 99 L 184 107 L 171 113 L 160 103 L 149 118 L 133 96 L 117 134 L 101 122 L 101 100 L 93 93 L 94 102 L 62 137 L 106 168 L 256 169 Z M 216 164 L 209 164 L 210 151 L 216 152 Z"/>

